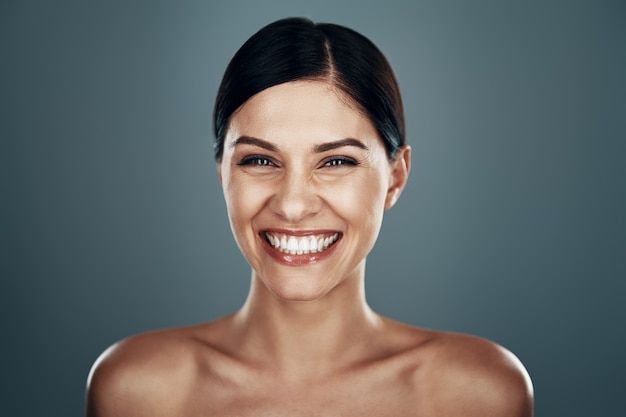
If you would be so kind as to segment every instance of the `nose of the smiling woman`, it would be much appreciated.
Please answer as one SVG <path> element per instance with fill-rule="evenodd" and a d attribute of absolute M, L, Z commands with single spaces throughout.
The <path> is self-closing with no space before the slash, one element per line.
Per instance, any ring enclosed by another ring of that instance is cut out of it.
<path fill-rule="evenodd" d="M 322 207 L 317 188 L 304 172 L 285 173 L 270 201 L 273 212 L 283 220 L 295 224 L 315 216 Z"/>

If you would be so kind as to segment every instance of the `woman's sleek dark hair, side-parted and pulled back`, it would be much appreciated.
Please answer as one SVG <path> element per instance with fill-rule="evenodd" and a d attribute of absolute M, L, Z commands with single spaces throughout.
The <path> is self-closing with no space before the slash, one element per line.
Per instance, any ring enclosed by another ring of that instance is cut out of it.
<path fill-rule="evenodd" d="M 222 159 L 233 112 L 266 88 L 302 79 L 326 79 L 351 97 L 376 127 L 388 158 L 395 158 L 405 143 L 404 114 L 385 56 L 352 29 L 287 18 L 252 35 L 228 64 L 213 110 L 215 159 Z"/>

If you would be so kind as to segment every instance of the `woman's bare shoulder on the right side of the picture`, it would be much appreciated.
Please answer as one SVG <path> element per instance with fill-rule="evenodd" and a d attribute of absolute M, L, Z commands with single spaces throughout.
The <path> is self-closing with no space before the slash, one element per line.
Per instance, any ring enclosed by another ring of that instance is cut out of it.
<path fill-rule="evenodd" d="M 433 400 L 429 415 L 532 416 L 532 383 L 513 353 L 475 336 L 433 334 L 418 373 L 418 389 Z"/>

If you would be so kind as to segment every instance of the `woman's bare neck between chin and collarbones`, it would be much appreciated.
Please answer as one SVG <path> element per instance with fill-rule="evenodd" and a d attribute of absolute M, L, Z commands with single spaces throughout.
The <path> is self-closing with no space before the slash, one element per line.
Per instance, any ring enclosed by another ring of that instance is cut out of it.
<path fill-rule="evenodd" d="M 365 300 L 363 275 L 321 299 L 302 302 L 279 299 L 254 273 L 234 320 L 240 351 L 291 378 L 349 366 L 381 322 Z"/>

